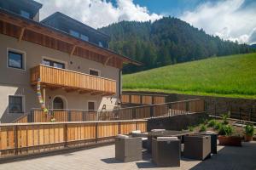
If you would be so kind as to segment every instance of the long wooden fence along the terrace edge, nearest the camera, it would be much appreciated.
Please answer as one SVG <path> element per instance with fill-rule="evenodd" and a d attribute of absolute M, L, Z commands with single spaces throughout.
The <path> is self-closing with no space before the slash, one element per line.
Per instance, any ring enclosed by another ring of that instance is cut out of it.
<path fill-rule="evenodd" d="M 0 158 L 96 144 L 133 130 L 146 132 L 147 121 L 0 124 Z"/>

